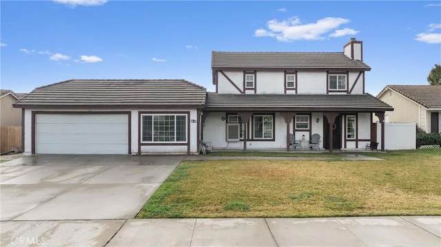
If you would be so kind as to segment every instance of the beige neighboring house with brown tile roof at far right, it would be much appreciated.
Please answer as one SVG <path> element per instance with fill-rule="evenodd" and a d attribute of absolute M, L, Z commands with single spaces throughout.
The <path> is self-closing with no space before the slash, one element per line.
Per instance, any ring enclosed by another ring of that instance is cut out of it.
<path fill-rule="evenodd" d="M 441 86 L 387 85 L 377 98 L 394 108 L 389 122 L 416 122 L 427 133 L 441 133 Z"/>

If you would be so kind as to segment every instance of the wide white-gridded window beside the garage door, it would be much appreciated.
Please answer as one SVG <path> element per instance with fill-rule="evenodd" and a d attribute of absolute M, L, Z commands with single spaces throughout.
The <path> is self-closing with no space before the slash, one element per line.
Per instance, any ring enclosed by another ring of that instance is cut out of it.
<path fill-rule="evenodd" d="M 186 142 L 187 115 L 142 115 L 143 142 Z"/>

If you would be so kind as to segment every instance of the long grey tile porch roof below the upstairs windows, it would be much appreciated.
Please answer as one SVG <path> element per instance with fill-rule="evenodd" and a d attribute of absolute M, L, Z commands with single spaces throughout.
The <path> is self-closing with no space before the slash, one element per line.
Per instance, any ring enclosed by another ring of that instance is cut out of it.
<path fill-rule="evenodd" d="M 392 111 L 370 94 L 207 94 L 205 109 L 222 111 Z"/>

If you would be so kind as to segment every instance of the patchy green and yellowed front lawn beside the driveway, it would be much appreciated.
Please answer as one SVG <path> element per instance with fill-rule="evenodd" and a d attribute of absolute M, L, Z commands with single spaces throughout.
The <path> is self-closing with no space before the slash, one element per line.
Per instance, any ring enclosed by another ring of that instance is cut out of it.
<path fill-rule="evenodd" d="M 440 149 L 362 153 L 383 161 L 182 162 L 137 215 L 441 215 Z"/>

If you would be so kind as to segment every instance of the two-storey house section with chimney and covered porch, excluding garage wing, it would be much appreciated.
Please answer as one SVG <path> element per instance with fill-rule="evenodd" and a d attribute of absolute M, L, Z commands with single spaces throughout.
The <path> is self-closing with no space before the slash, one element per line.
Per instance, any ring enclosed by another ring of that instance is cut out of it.
<path fill-rule="evenodd" d="M 364 149 L 376 136 L 372 115 L 383 122 L 393 108 L 365 93 L 362 50 L 350 39 L 343 52 L 212 52 L 216 92 L 207 94 L 203 140 L 213 149 L 289 150 L 290 134 L 318 133 L 320 148 Z"/>

